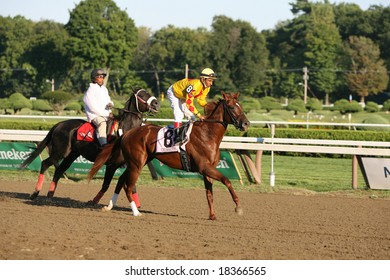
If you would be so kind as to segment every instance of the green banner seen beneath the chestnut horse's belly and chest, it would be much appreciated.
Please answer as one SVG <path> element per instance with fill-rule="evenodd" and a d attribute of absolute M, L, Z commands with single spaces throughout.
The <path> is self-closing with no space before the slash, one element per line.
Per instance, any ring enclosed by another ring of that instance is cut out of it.
<path fill-rule="evenodd" d="M 161 177 L 202 178 L 199 173 L 170 168 L 157 159 L 152 160 L 152 164 L 157 175 Z M 234 159 L 228 151 L 221 151 L 221 157 L 217 165 L 217 169 L 231 180 L 241 180 L 241 176 L 237 171 Z"/>

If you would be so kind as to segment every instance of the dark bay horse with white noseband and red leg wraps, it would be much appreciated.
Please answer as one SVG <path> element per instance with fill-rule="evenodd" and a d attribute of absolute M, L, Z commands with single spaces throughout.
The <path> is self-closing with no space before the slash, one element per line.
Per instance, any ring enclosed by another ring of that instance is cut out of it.
<path fill-rule="evenodd" d="M 160 103 L 154 96 L 144 89 L 136 89 L 124 108 L 119 110 L 119 115 L 113 117 L 113 121 L 118 123 L 117 131 L 126 132 L 134 127 L 141 126 L 144 113 L 156 113 L 159 109 Z M 50 166 L 54 165 L 56 167 L 47 193 L 48 197 L 53 197 L 58 181 L 80 155 L 89 161 L 95 161 L 96 156 L 102 150 L 96 137 L 93 142 L 77 140 L 77 130 L 86 122 L 82 119 L 72 119 L 57 123 L 38 144 L 35 151 L 22 163 L 21 168 L 26 168 L 45 147 L 48 148 L 49 157 L 42 161 L 38 182 L 35 191 L 30 196 L 31 199 L 38 196 L 42 189 L 44 173 Z M 112 142 L 117 136 L 114 135 L 111 138 L 109 142 Z M 102 188 L 91 201 L 92 204 L 97 204 L 107 191 L 116 169 L 106 168 Z"/>

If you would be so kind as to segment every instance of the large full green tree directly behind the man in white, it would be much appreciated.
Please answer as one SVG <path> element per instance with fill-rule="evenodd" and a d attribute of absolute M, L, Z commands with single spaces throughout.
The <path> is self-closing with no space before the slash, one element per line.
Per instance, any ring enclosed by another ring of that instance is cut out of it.
<path fill-rule="evenodd" d="M 129 71 L 137 46 L 134 21 L 112 0 L 85 0 L 70 12 L 65 28 L 70 35 L 67 50 L 72 58 L 74 88 L 84 92 L 91 70 L 106 68 L 115 76 L 111 79 L 114 84 L 107 86 L 120 91 L 120 81 Z"/>

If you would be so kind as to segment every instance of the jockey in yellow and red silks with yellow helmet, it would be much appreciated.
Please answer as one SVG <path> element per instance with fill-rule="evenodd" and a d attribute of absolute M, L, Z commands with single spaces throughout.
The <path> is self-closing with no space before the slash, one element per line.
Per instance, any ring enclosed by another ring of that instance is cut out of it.
<path fill-rule="evenodd" d="M 194 105 L 194 100 L 204 107 L 207 104 L 206 97 L 217 75 L 210 68 L 202 70 L 197 79 L 182 79 L 175 82 L 167 90 L 167 96 L 171 104 L 174 116 L 174 128 L 181 127 L 184 116 L 189 120 L 198 117 L 204 119 Z"/>

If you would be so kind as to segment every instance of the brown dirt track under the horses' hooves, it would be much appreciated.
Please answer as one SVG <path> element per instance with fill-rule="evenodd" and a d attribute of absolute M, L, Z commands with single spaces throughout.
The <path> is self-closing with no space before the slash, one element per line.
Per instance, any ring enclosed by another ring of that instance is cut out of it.
<path fill-rule="evenodd" d="M 85 202 L 98 185 L 60 185 L 53 199 L 33 184 L 0 182 L 0 259 L 390 259 L 390 201 L 215 190 L 216 221 L 203 190 L 139 187 L 142 217 L 122 194 L 105 213 Z M 103 197 L 108 202 L 111 191 Z"/>

